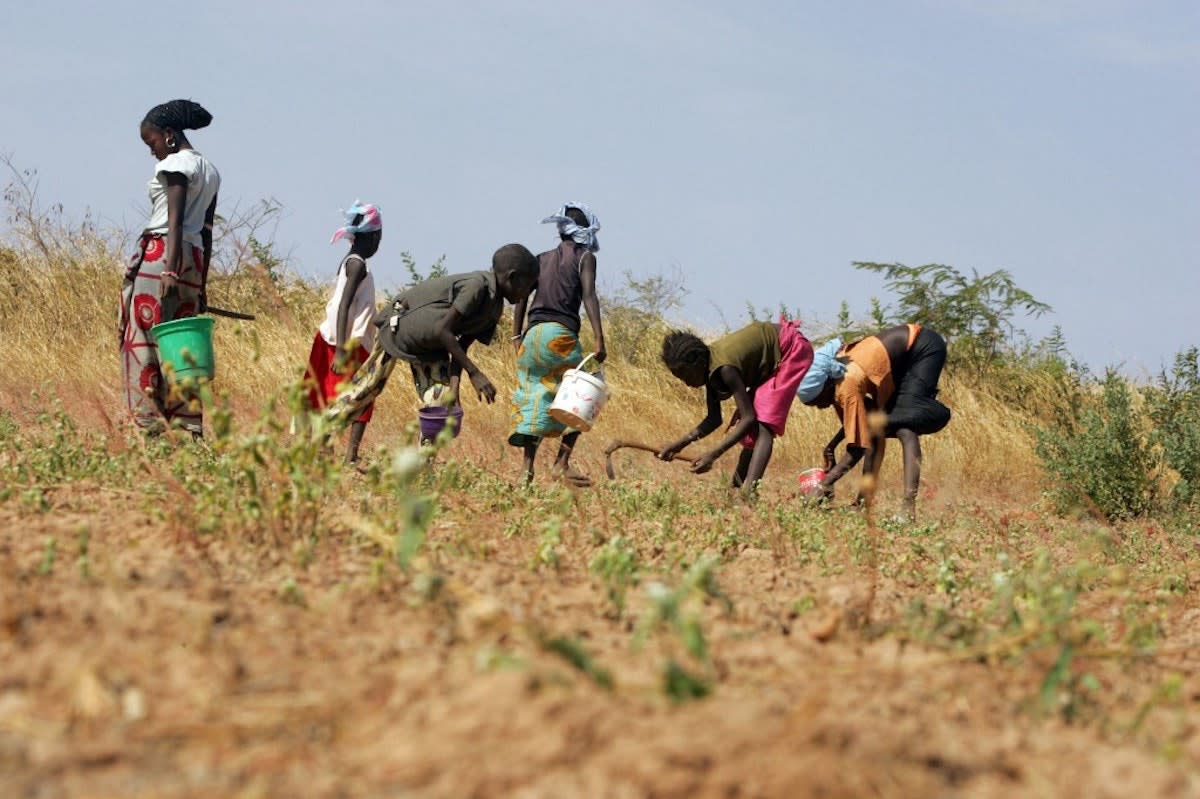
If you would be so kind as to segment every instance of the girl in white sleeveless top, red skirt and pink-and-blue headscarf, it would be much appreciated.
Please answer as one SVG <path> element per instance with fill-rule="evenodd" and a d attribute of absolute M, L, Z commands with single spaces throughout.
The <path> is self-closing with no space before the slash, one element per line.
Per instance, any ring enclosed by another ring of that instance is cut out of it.
<path fill-rule="evenodd" d="M 367 259 L 379 250 L 383 217 L 377 205 L 359 200 L 346 209 L 344 214 L 346 224 L 334 232 L 329 242 L 346 239 L 350 242 L 350 251 L 337 266 L 334 293 L 325 306 L 325 319 L 317 328 L 312 350 L 308 353 L 305 379 L 308 384 L 308 407 L 312 410 L 325 408 L 337 396 L 338 389 L 366 362 L 374 344 L 376 329 L 372 319 L 376 312 L 376 289 Z M 373 410 L 372 403 L 350 425 L 347 463 L 359 459 L 359 445 Z"/>

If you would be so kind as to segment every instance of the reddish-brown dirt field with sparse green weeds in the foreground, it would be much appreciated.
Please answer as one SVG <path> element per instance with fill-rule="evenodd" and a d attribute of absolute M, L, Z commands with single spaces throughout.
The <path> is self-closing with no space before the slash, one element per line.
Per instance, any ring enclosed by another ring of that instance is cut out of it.
<path fill-rule="evenodd" d="M 1200 793 L 1194 529 L 936 495 L 920 525 L 868 527 L 788 511 L 784 479 L 749 506 L 649 456 L 618 456 L 620 479 L 590 492 L 521 493 L 487 451 L 464 434 L 443 453 L 461 485 L 438 483 L 407 570 L 355 528 L 374 489 L 359 475 L 330 501 L 344 523 L 312 539 L 197 534 L 88 480 L 0 504 L 0 795 Z M 594 452 L 583 464 L 601 470 Z M 589 566 L 618 535 L 638 564 L 623 612 Z M 1156 535 L 1183 575 L 1170 590 Z M 994 621 L 997 569 L 1037 552 L 1046 575 L 1102 573 L 1054 621 L 1055 585 L 1028 571 L 1026 621 Z M 707 657 L 670 630 L 636 645 L 647 587 L 703 553 L 732 601 L 685 597 Z M 668 698 L 668 659 L 712 693 Z"/>

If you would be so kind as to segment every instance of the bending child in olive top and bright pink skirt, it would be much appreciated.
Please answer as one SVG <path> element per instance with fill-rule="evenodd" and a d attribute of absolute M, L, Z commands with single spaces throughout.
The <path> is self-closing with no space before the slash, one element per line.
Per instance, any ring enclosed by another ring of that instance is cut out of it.
<path fill-rule="evenodd" d="M 685 384 L 704 386 L 708 415 L 658 457 L 671 461 L 685 446 L 721 426 L 721 401 L 733 397 L 737 413 L 728 434 L 691 464 L 703 474 L 734 444 L 743 446 L 732 485 L 754 491 L 770 462 L 776 435 L 784 434 L 796 390 L 812 364 L 812 346 L 798 323 L 752 322 L 712 344 L 676 330 L 662 340 L 662 362 Z"/>

